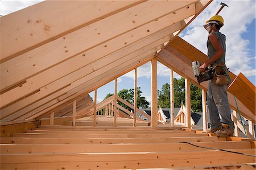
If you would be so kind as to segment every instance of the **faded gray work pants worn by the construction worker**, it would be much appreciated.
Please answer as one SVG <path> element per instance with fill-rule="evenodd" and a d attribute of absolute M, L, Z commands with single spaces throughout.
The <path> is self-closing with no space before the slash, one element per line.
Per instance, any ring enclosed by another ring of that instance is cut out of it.
<path fill-rule="evenodd" d="M 228 124 L 230 129 L 234 131 L 234 123 L 231 119 L 231 111 L 229 106 L 227 86 L 218 86 L 209 81 L 207 92 L 207 105 L 210 115 L 210 128 L 217 128 L 221 123 Z"/>

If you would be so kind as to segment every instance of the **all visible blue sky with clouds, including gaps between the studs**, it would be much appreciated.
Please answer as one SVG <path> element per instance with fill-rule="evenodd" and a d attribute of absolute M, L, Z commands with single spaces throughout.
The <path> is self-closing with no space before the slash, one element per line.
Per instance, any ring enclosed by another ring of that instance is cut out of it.
<path fill-rule="evenodd" d="M 16 10 L 33 5 L 40 1 L 0 1 L 0 15 L 7 15 Z M 256 85 L 255 65 L 255 0 L 244 1 L 213 1 L 189 26 L 179 35 L 200 51 L 207 53 L 207 31 L 202 25 L 210 16 L 216 14 L 220 8 L 220 2 L 226 3 L 220 15 L 224 18 L 224 27 L 220 32 L 226 35 L 226 65 L 235 74 L 242 72 Z M 142 95 L 150 102 L 151 77 L 150 63 L 138 68 L 138 86 L 141 86 Z M 175 74 L 176 78 L 180 78 Z M 158 89 L 170 82 L 170 69 L 158 63 Z M 118 91 L 126 88 L 134 88 L 134 71 L 118 78 Z M 106 94 L 114 93 L 114 81 L 98 89 L 97 101 L 105 98 Z M 94 92 L 90 93 L 94 97 Z"/>

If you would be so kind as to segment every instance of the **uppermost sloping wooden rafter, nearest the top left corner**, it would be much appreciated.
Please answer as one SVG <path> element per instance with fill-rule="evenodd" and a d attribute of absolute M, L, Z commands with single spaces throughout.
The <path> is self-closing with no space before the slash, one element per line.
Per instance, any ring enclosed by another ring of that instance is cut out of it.
<path fill-rule="evenodd" d="M 44 1 L 2 16 L 1 63 L 141 2 Z"/>

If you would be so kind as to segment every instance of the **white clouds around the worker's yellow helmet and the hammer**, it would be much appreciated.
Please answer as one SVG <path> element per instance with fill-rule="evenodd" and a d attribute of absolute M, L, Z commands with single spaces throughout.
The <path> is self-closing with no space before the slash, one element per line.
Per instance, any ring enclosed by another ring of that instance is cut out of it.
<path fill-rule="evenodd" d="M 186 29 L 181 38 L 192 44 L 200 51 L 207 53 L 207 31 L 202 27 L 206 20 L 215 15 L 220 8 L 221 1 L 212 2 Z M 222 9 L 224 27 L 220 32 L 226 35 L 226 65 L 235 74 L 242 72 L 245 76 L 255 76 L 255 67 L 250 66 L 255 62 L 255 53 L 250 54 L 249 40 L 243 39 L 242 34 L 247 31 L 248 25 L 255 19 L 255 1 L 222 1 L 229 7 Z M 216 12 L 215 12 L 216 11 Z M 255 39 L 255 38 L 253 38 Z M 255 49 L 254 49 L 255 51 Z"/>

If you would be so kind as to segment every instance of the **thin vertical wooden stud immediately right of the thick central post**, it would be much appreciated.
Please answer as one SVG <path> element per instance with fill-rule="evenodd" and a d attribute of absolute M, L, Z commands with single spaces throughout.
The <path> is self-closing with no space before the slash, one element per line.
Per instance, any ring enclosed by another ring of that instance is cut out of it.
<path fill-rule="evenodd" d="M 171 127 L 174 126 L 174 71 L 171 69 L 171 72 L 170 72 L 170 118 L 171 118 L 171 121 L 170 121 L 170 125 Z"/>

